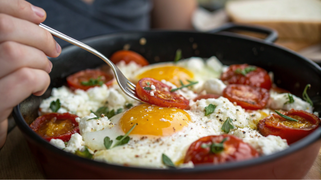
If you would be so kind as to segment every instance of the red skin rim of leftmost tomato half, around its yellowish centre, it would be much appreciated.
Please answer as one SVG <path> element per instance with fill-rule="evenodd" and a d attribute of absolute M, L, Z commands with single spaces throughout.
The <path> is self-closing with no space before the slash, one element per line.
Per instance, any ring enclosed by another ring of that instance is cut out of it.
<path fill-rule="evenodd" d="M 60 113 L 49 113 L 45 114 L 43 116 L 39 116 L 37 119 L 35 119 L 31 124 L 30 127 L 33 131 L 37 132 L 38 129 L 45 123 L 46 121 L 52 119 L 52 118 L 57 118 L 57 120 L 65 120 L 65 119 L 70 119 L 73 124 L 75 125 L 75 128 L 72 131 L 69 131 L 63 135 L 58 135 L 58 136 L 51 136 L 51 137 L 43 137 L 44 139 L 50 141 L 51 139 L 61 139 L 64 142 L 68 142 L 70 140 L 71 135 L 75 133 L 79 133 L 79 126 L 78 123 L 76 122 L 76 118 L 78 116 L 74 114 L 69 114 L 68 112 L 60 114 Z"/>

